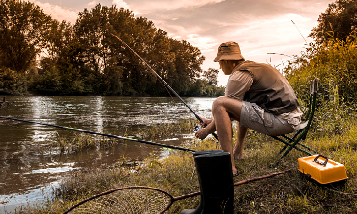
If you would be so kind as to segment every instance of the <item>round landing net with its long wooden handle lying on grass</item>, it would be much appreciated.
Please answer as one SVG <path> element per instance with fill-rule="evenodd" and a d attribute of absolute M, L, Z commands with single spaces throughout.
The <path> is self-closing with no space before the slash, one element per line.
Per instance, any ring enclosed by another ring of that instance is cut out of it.
<path fill-rule="evenodd" d="M 283 174 L 290 170 L 275 172 L 272 174 L 263 175 L 245 179 L 233 184 L 234 187 L 247 184 L 252 181 L 273 177 Z M 151 187 L 124 187 L 87 198 L 80 201 L 76 205 L 69 208 L 63 214 L 67 213 L 164 213 L 174 201 L 183 200 L 199 195 L 200 192 L 190 193 L 187 195 L 173 197 L 164 190 Z"/>

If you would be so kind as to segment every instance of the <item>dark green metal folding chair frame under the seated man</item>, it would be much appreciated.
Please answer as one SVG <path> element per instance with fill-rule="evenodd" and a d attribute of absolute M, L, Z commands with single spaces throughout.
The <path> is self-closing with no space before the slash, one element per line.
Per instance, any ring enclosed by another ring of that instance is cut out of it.
<path fill-rule="evenodd" d="M 302 144 L 300 141 L 305 140 L 306 135 L 311 128 L 311 122 L 312 122 L 312 118 L 314 116 L 315 107 L 316 107 L 318 80 L 319 80 L 318 78 L 311 80 L 309 109 L 308 109 L 308 112 L 306 114 L 305 121 L 304 121 L 304 123 L 307 123 L 307 126 L 304 129 L 296 130 L 295 131 L 296 133 L 294 134 L 294 136 L 292 138 L 288 137 L 287 135 L 279 135 L 279 136 L 269 135 L 272 138 L 279 140 L 280 142 L 283 142 L 285 144 L 283 149 L 281 149 L 281 151 L 279 152 L 279 154 L 281 155 L 285 151 L 284 154 L 278 159 L 278 161 L 274 164 L 273 167 L 275 167 L 280 162 L 280 160 L 282 160 L 289 153 L 289 151 L 291 151 L 291 149 L 293 149 L 293 148 L 304 152 L 308 156 L 312 156 L 313 154 L 311 154 L 309 151 L 304 150 L 300 147 L 308 149 L 308 150 L 314 152 L 315 154 L 317 153 L 317 151 Z M 283 138 L 285 138 L 287 140 L 284 140 Z M 298 147 L 298 146 L 300 146 L 300 147 Z"/>

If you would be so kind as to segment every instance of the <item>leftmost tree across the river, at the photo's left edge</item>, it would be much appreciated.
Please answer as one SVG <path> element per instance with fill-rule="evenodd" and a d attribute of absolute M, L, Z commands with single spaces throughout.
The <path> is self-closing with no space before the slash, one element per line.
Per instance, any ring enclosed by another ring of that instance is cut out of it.
<path fill-rule="evenodd" d="M 0 0 L 0 66 L 26 72 L 42 51 L 51 16 L 30 2 Z"/>

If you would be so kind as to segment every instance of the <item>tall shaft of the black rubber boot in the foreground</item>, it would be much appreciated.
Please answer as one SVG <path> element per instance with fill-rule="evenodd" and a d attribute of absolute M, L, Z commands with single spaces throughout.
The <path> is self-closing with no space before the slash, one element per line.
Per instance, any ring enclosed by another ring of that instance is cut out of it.
<path fill-rule="evenodd" d="M 194 157 L 203 195 L 201 214 L 232 214 L 234 186 L 229 152 Z"/>

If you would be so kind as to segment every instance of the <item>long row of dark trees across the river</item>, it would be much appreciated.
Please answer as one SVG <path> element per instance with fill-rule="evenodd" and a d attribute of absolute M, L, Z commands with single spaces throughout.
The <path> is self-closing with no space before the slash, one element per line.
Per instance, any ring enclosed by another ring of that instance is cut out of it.
<path fill-rule="evenodd" d="M 132 11 L 97 4 L 74 24 L 30 2 L 0 0 L 0 91 L 21 95 L 168 96 L 125 41 L 180 96 L 224 95 L 197 47 Z"/>

